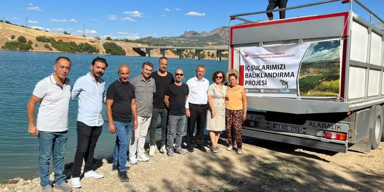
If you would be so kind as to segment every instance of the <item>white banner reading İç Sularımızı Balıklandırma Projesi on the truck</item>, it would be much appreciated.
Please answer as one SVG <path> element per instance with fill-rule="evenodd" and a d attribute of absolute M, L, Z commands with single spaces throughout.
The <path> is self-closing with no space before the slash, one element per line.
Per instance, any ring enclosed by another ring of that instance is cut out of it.
<path fill-rule="evenodd" d="M 339 96 L 340 40 L 240 49 L 248 96 Z"/>

